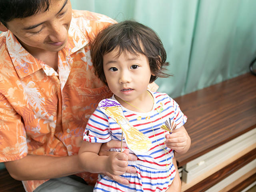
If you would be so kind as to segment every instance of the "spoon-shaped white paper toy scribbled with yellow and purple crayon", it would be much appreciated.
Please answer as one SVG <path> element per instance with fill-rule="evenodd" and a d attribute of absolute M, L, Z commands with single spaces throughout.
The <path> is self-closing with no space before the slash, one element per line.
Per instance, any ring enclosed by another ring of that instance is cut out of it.
<path fill-rule="evenodd" d="M 104 99 L 100 101 L 98 107 L 120 126 L 126 145 L 130 150 L 135 153 L 144 153 L 150 150 L 152 146 L 150 138 L 129 124 L 120 103 L 113 99 Z"/>

